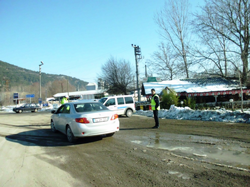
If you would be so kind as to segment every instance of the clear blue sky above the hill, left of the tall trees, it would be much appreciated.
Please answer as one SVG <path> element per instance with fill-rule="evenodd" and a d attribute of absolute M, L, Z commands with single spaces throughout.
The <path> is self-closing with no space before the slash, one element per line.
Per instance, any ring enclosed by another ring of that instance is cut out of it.
<path fill-rule="evenodd" d="M 0 60 L 33 71 L 97 82 L 112 56 L 135 69 L 161 41 L 154 17 L 165 0 L 0 0 Z M 192 8 L 203 0 L 190 1 Z"/>

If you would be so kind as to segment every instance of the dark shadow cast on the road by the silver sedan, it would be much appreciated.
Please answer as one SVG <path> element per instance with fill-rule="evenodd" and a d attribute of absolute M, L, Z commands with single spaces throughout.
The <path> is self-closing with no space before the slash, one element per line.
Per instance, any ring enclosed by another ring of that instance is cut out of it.
<path fill-rule="evenodd" d="M 67 141 L 66 135 L 62 133 L 53 133 L 50 129 L 38 129 L 8 135 L 5 136 L 5 138 L 8 141 L 25 146 L 58 147 L 96 142 L 102 140 L 103 136 L 81 138 L 78 139 L 75 144 L 72 144 Z"/>

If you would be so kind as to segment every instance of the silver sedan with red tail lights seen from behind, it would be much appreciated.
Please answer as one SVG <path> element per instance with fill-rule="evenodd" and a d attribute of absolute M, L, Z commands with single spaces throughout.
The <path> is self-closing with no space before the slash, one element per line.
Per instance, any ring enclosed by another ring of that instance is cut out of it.
<path fill-rule="evenodd" d="M 51 130 L 66 134 L 71 143 L 82 137 L 113 136 L 120 127 L 118 115 L 99 102 L 65 103 L 51 113 Z"/>

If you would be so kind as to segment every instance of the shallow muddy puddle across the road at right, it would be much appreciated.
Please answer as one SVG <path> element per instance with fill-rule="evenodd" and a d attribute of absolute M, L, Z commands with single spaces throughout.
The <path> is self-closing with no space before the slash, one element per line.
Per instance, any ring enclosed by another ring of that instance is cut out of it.
<path fill-rule="evenodd" d="M 237 167 L 249 168 L 250 166 L 250 144 L 243 142 L 159 132 L 152 132 L 148 137 L 134 137 L 131 142 L 168 150 L 198 160 Z"/>

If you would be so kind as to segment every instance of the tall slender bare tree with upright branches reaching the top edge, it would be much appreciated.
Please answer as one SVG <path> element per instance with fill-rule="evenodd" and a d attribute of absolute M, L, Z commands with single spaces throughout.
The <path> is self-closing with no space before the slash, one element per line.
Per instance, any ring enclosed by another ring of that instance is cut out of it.
<path fill-rule="evenodd" d="M 188 39 L 189 39 L 189 4 L 188 0 L 168 0 L 164 9 L 157 14 L 156 23 L 160 27 L 161 36 L 175 50 L 179 60 L 183 62 L 186 78 L 189 78 Z"/>

